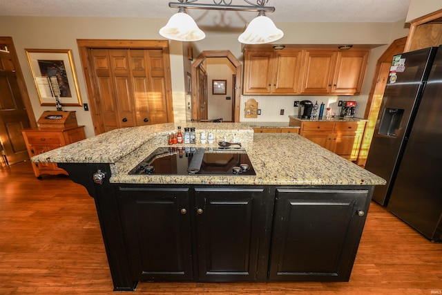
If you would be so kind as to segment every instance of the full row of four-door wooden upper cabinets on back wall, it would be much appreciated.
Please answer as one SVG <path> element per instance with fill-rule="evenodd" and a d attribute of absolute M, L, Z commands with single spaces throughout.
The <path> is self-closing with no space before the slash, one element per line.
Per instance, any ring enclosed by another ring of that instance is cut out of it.
<path fill-rule="evenodd" d="M 355 95 L 369 49 L 245 50 L 244 95 Z"/>

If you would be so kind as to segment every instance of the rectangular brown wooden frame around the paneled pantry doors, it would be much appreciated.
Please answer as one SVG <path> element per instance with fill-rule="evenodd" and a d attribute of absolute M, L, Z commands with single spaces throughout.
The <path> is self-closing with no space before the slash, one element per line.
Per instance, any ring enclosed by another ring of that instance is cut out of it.
<path fill-rule="evenodd" d="M 173 99 L 172 99 L 172 82 L 171 82 L 171 63 L 169 59 L 169 40 L 108 40 L 108 39 L 77 39 L 79 55 L 81 58 L 81 67 L 86 81 L 88 91 L 88 102 L 90 106 L 90 116 L 92 117 L 95 135 L 103 133 L 104 130 L 100 124 L 101 115 L 95 99 L 95 81 L 93 75 L 90 74 L 90 60 L 88 59 L 88 50 L 91 48 L 101 49 L 161 49 L 164 54 L 164 70 L 166 75 L 166 100 L 167 113 L 169 122 L 173 122 Z"/>

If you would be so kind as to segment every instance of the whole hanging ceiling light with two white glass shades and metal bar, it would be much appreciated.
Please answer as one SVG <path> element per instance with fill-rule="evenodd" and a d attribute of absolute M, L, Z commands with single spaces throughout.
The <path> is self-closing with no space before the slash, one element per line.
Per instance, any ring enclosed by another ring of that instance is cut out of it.
<path fill-rule="evenodd" d="M 265 12 L 274 12 L 272 6 L 265 6 L 269 0 L 256 0 L 256 4 L 244 0 L 250 6 L 231 5 L 232 0 L 213 0 L 213 4 L 195 3 L 198 0 L 178 0 L 179 3 L 169 2 L 170 8 L 179 8 L 178 12 L 169 19 L 166 26 L 161 28 L 160 35 L 177 41 L 200 41 L 206 35 L 190 15 L 186 8 L 206 10 L 234 10 L 258 12 L 258 17 L 252 19 L 246 30 L 238 37 L 243 44 L 265 44 L 277 41 L 284 36 L 282 30 L 276 28 L 275 23 L 266 17 Z"/>

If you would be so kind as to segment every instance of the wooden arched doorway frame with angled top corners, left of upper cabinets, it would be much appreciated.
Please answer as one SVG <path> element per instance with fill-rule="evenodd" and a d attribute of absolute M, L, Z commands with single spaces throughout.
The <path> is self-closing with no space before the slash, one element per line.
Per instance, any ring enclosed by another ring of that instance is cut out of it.
<path fill-rule="evenodd" d="M 192 63 L 192 118 L 200 118 L 200 89 L 198 89 L 197 72 L 198 68 L 206 58 L 210 57 L 226 57 L 231 64 L 236 68 L 236 86 L 235 93 L 233 95 L 233 122 L 240 122 L 240 100 L 241 100 L 241 85 L 242 85 L 242 64 L 236 57 L 230 52 L 230 50 L 205 50 L 198 55 L 198 57 Z"/>

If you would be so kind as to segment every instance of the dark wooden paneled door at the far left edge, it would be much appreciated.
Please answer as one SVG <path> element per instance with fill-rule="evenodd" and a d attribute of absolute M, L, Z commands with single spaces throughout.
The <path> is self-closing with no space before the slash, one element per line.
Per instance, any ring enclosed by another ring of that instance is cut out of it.
<path fill-rule="evenodd" d="M 9 164 L 29 159 L 21 129 L 30 127 L 10 53 L 0 51 L 0 143 Z"/>

